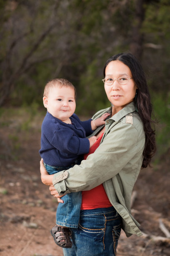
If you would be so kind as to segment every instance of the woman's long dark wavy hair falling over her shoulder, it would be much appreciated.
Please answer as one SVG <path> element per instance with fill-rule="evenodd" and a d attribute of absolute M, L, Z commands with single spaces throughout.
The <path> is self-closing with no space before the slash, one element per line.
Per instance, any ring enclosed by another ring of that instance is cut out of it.
<path fill-rule="evenodd" d="M 143 164 L 142 168 L 146 168 L 156 151 L 155 144 L 155 131 L 152 129 L 151 124 L 154 121 L 151 119 L 152 114 L 152 104 L 150 101 L 150 93 L 148 90 L 148 85 L 146 82 L 145 73 L 139 61 L 129 53 L 116 54 L 110 57 L 104 67 L 104 77 L 105 69 L 110 61 L 119 60 L 129 67 L 133 80 L 138 87 L 138 93 L 135 97 L 135 105 L 140 115 L 141 120 L 143 121 L 144 131 L 145 131 L 145 148 L 143 151 Z"/>

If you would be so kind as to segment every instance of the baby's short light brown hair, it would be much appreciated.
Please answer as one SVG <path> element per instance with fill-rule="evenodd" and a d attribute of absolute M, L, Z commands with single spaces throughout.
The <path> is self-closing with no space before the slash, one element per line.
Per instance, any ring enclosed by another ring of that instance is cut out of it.
<path fill-rule="evenodd" d="M 45 85 L 45 88 L 44 88 L 44 97 L 47 97 L 48 96 L 48 93 L 50 91 L 50 88 L 52 87 L 71 87 L 72 89 L 74 89 L 75 91 L 75 99 L 76 99 L 76 89 L 74 87 L 74 85 L 69 82 L 67 79 L 65 78 L 54 78 L 52 80 L 50 80 L 49 82 L 47 82 L 47 84 Z"/>

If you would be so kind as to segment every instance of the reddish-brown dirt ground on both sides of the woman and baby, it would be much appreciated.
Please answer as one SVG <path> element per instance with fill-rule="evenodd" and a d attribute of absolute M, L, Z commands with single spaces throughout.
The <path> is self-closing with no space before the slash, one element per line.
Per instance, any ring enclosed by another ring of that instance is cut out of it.
<path fill-rule="evenodd" d="M 20 128 L 22 120 L 1 117 L 0 121 L 0 255 L 62 256 L 50 235 L 57 200 L 40 181 L 42 117 L 29 124 L 28 130 Z M 167 152 L 159 165 L 141 170 L 132 213 L 144 236 L 126 238 L 122 232 L 117 256 L 170 255 L 170 238 L 164 241 L 159 227 L 162 220 L 170 231 L 169 166 Z"/>

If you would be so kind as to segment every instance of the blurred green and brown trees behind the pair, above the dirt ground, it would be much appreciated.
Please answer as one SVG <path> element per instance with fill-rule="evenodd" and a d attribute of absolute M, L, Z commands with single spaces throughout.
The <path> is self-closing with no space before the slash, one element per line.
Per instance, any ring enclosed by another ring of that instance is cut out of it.
<path fill-rule="evenodd" d="M 0 115 L 25 109 L 27 127 L 43 109 L 45 84 L 64 77 L 77 88 L 76 113 L 91 116 L 109 106 L 103 67 L 119 52 L 135 54 L 143 65 L 159 121 L 157 154 L 165 153 L 170 148 L 169 0 L 0 0 Z"/>

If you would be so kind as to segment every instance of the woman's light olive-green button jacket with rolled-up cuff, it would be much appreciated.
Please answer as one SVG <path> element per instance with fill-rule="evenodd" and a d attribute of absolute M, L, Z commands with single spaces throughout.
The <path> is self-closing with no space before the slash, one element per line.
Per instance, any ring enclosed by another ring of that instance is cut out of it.
<path fill-rule="evenodd" d="M 106 112 L 111 113 L 111 110 L 100 110 L 92 119 Z M 143 162 L 144 146 L 143 123 L 131 102 L 106 120 L 100 146 L 87 160 L 54 175 L 54 187 L 63 195 L 90 190 L 103 183 L 111 204 L 122 217 L 122 229 L 126 236 L 141 236 L 140 224 L 130 213 L 130 200 Z"/>

